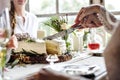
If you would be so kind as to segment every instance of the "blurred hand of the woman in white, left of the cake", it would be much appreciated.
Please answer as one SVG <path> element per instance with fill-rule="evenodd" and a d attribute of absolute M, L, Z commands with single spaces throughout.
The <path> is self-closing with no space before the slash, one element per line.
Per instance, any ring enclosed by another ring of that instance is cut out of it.
<path fill-rule="evenodd" d="M 15 35 L 11 36 L 9 42 L 6 45 L 9 49 L 16 49 L 18 47 L 18 41 Z"/>

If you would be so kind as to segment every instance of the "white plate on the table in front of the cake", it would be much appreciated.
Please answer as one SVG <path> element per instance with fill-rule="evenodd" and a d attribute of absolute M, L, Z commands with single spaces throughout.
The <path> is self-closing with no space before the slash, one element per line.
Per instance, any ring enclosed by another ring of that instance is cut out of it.
<path fill-rule="evenodd" d="M 57 69 L 56 69 L 57 67 Z M 89 75 L 94 74 L 100 67 L 98 65 L 77 65 L 77 64 L 63 64 L 63 65 L 50 65 L 46 68 L 51 68 L 55 71 L 64 72 L 70 75 Z"/>

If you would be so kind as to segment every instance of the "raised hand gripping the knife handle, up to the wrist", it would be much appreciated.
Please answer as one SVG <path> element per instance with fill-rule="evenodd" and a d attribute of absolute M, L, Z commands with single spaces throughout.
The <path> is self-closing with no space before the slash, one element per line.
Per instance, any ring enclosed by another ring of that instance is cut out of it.
<path fill-rule="evenodd" d="M 100 7 L 100 5 L 83 7 L 78 13 L 75 23 L 80 24 L 82 28 L 100 27 L 102 25 L 98 17 Z"/>

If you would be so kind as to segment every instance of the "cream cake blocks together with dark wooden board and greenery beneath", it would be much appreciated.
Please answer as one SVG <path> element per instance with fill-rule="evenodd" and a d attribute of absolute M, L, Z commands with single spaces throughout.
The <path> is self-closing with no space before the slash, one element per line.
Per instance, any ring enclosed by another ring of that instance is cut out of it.
<path fill-rule="evenodd" d="M 65 52 L 66 45 L 64 40 L 40 40 L 35 42 L 22 40 L 19 41 L 18 48 L 13 51 L 9 62 L 19 59 L 19 63 L 25 64 L 48 63 L 46 58 L 49 54 L 57 54 L 59 58 L 57 62 L 72 59 L 72 56 L 64 54 Z"/>

